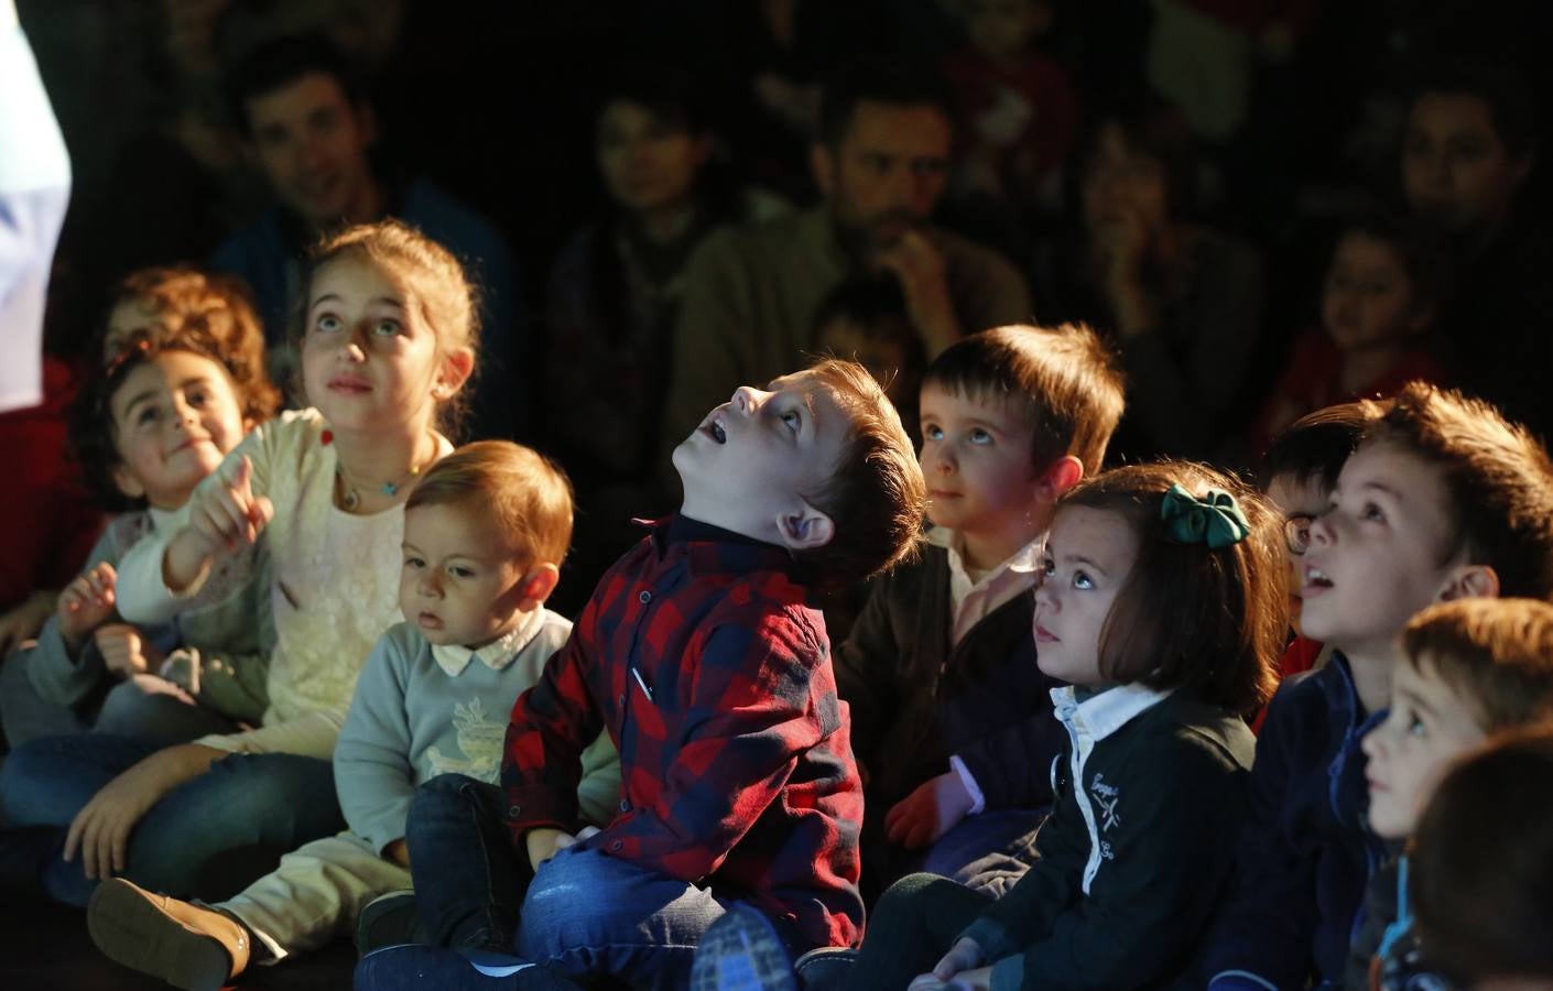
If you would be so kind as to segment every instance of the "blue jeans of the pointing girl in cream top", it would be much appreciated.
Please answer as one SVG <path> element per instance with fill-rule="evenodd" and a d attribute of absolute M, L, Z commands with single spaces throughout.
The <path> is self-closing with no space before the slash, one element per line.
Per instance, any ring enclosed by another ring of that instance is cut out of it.
<path fill-rule="evenodd" d="M 57 901 L 85 906 L 96 887 L 81 861 L 65 862 L 65 833 L 109 781 L 149 756 L 151 742 L 81 733 L 17 747 L 0 767 L 0 811 L 8 826 L 54 826 L 54 856 L 37 864 L 43 888 Z M 273 870 L 280 854 L 345 828 L 329 761 L 290 753 L 233 753 L 168 792 L 135 823 L 123 876 L 175 898 L 210 901 L 235 895 Z M 224 856 L 264 848 L 221 881 L 205 881 Z M 9 865 L 12 870 L 16 865 Z"/>

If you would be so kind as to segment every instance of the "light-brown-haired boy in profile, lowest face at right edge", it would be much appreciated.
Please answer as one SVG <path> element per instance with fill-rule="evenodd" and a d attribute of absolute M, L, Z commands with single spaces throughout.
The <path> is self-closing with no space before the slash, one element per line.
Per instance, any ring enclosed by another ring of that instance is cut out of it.
<path fill-rule="evenodd" d="M 1553 606 L 1536 600 L 1464 600 L 1423 610 L 1402 634 L 1385 722 L 1364 738 L 1370 758 L 1370 826 L 1401 847 L 1451 764 L 1488 736 L 1553 716 Z M 1517 784 L 1517 788 L 1525 788 Z M 1430 974 L 1407 910 L 1410 857 L 1390 857 L 1370 881 L 1345 988 L 1447 988 Z M 1528 875 L 1525 884 L 1542 882 Z"/>

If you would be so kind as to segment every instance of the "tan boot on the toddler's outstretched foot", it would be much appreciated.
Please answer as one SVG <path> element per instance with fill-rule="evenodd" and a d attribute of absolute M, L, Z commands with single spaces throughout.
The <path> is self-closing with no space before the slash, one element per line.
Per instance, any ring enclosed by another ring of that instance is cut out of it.
<path fill-rule="evenodd" d="M 185 991 L 219 991 L 248 966 L 248 930 L 241 924 L 121 878 L 92 893 L 87 929 L 112 960 Z"/>

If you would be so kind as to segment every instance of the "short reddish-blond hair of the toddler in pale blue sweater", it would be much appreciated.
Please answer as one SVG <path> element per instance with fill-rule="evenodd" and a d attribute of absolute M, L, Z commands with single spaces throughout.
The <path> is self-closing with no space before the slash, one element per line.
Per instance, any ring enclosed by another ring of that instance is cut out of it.
<path fill-rule="evenodd" d="M 475 441 L 433 464 L 404 508 L 469 506 L 491 513 L 530 564 L 559 565 L 572 545 L 572 483 L 544 455 L 512 441 Z"/>

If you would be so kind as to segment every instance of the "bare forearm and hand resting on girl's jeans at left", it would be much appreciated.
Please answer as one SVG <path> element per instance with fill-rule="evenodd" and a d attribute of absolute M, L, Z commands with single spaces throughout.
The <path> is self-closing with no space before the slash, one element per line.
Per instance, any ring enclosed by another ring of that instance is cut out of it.
<path fill-rule="evenodd" d="M 157 750 L 104 784 L 70 823 L 65 861 L 81 851 L 81 868 L 90 879 L 124 870 L 124 850 L 135 823 L 169 791 L 210 770 L 225 750 L 179 744 Z"/>

